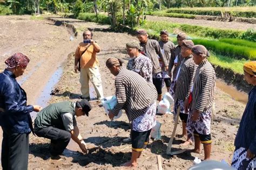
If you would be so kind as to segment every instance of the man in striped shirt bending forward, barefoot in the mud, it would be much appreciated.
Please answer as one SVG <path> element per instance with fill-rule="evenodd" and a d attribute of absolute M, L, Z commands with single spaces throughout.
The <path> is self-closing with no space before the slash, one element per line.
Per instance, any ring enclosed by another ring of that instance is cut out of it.
<path fill-rule="evenodd" d="M 106 61 L 107 68 L 116 76 L 117 104 L 109 111 L 109 118 L 124 109 L 132 122 L 132 157 L 123 166 L 136 167 L 144 145 L 149 142 L 151 129 L 156 125 L 157 90 L 138 73 L 123 68 L 122 63 L 113 57 Z"/>

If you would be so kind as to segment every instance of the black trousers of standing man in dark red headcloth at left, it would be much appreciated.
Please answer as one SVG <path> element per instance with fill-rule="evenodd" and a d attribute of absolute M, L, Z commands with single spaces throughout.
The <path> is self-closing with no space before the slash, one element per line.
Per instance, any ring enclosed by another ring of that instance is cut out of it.
<path fill-rule="evenodd" d="M 28 169 L 29 133 L 15 133 L 3 128 L 1 162 L 3 170 Z"/>

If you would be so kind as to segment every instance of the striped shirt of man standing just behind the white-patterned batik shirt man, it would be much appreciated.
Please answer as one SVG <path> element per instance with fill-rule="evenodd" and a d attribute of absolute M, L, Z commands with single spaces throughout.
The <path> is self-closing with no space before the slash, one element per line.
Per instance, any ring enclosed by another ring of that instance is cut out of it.
<path fill-rule="evenodd" d="M 140 47 L 143 48 L 142 51 L 152 61 L 153 74 L 161 72 L 158 56 L 160 57 L 161 61 L 163 61 L 164 66 L 168 66 L 168 63 L 165 59 L 164 54 L 161 52 L 161 48 L 157 40 L 147 39 L 146 44 L 140 42 Z"/>

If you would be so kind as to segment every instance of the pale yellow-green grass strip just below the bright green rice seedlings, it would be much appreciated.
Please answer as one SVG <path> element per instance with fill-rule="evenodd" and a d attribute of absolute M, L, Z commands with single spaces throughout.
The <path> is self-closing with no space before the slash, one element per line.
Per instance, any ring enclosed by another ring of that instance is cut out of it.
<path fill-rule="evenodd" d="M 243 66 L 248 60 L 238 60 L 234 58 L 230 58 L 228 56 L 216 55 L 210 51 L 210 57 L 208 61 L 212 63 L 212 65 L 220 66 L 222 68 L 231 69 L 234 73 L 244 74 Z"/>

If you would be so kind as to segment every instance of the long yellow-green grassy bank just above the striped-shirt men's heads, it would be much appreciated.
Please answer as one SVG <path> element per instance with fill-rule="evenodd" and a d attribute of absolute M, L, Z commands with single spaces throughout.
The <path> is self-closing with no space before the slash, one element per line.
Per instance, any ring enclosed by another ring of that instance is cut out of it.
<path fill-rule="evenodd" d="M 146 29 L 151 33 L 157 33 L 161 30 L 168 30 L 169 32 L 173 31 L 184 31 L 187 34 L 192 34 L 197 37 L 208 37 L 214 39 L 220 38 L 240 38 L 243 31 L 237 30 L 223 30 L 223 29 L 214 29 L 212 27 L 188 25 L 188 24 L 177 24 L 170 22 L 151 22 L 147 21 L 145 25 L 140 27 L 141 29 Z M 246 38 L 246 37 L 244 37 Z"/>

